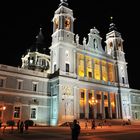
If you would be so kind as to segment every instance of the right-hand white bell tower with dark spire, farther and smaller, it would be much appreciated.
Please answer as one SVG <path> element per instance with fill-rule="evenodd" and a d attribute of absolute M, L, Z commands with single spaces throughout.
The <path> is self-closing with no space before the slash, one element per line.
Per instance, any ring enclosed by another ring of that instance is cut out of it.
<path fill-rule="evenodd" d="M 112 18 L 111 18 L 112 20 Z M 116 60 L 116 79 L 120 86 L 129 87 L 127 62 L 123 51 L 123 39 L 113 22 L 106 34 L 106 53 Z"/>

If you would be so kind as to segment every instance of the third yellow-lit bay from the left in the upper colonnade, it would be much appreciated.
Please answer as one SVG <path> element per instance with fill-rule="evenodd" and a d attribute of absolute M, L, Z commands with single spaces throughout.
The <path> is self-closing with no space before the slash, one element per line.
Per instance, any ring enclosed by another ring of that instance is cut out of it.
<path fill-rule="evenodd" d="M 100 60 L 94 59 L 94 77 L 96 80 L 100 80 Z"/>

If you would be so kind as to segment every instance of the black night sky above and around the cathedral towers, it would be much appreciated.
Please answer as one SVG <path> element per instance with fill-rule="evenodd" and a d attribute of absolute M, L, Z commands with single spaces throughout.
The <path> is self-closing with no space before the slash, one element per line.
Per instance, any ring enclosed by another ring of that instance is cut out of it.
<path fill-rule="evenodd" d="M 59 0 L 18 1 L 1 4 L 0 10 L 0 64 L 21 66 L 21 56 L 35 42 L 40 26 L 47 48 L 51 45 L 52 18 Z M 74 33 L 80 40 L 96 27 L 104 47 L 110 17 L 124 39 L 131 88 L 140 89 L 139 66 L 139 13 L 138 2 L 122 0 L 68 0 L 76 18 Z M 137 8 L 138 7 L 138 8 Z"/>

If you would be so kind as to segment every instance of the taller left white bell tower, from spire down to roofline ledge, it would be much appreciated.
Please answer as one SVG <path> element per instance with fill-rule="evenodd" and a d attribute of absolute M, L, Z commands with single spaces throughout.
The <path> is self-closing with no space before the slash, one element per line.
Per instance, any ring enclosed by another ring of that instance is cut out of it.
<path fill-rule="evenodd" d="M 58 71 L 62 75 L 75 75 L 75 43 L 73 33 L 73 11 L 68 8 L 67 0 L 60 0 L 53 17 L 53 34 L 51 52 L 51 72 Z"/>

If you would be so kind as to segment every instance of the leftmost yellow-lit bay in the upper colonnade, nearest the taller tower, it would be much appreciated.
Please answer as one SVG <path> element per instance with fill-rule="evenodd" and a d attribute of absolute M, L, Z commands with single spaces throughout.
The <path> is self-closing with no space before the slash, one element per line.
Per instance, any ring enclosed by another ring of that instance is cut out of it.
<path fill-rule="evenodd" d="M 84 55 L 78 54 L 78 75 L 84 77 Z"/>

